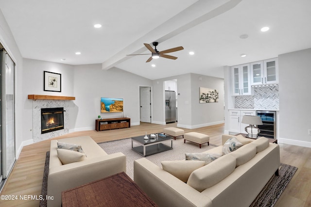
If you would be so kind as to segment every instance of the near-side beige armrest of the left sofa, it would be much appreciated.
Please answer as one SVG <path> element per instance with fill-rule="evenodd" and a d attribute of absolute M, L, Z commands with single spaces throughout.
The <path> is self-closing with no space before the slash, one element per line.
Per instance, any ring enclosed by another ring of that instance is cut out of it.
<path fill-rule="evenodd" d="M 121 172 L 126 172 L 126 157 L 121 152 L 51 167 L 47 195 L 54 199 L 48 200 L 48 206 L 61 206 L 62 191 Z"/>

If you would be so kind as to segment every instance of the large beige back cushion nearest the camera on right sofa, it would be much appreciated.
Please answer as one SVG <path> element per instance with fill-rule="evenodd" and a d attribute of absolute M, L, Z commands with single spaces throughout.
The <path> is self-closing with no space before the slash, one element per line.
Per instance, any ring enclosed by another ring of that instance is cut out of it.
<path fill-rule="evenodd" d="M 222 156 L 208 165 L 193 171 L 189 176 L 187 184 L 195 190 L 202 192 L 230 175 L 234 171 L 235 166 L 236 159 L 233 156 Z"/>

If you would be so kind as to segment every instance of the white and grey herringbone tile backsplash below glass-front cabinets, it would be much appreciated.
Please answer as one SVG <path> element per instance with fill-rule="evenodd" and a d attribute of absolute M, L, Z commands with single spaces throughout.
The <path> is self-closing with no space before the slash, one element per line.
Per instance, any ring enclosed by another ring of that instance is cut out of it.
<path fill-rule="evenodd" d="M 279 109 L 278 85 L 252 88 L 252 96 L 235 96 L 237 109 Z"/>

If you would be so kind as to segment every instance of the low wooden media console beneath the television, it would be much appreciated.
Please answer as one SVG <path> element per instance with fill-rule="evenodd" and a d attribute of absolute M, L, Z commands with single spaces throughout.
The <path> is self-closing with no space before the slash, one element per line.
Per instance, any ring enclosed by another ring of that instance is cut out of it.
<path fill-rule="evenodd" d="M 112 119 L 96 119 L 95 130 L 102 131 L 116 128 L 131 127 L 130 118 L 112 118 Z"/>

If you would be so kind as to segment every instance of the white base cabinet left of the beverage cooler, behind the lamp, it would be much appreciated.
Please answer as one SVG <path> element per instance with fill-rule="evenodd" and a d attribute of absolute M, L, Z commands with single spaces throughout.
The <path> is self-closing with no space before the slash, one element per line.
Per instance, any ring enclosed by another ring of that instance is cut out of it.
<path fill-rule="evenodd" d="M 244 115 L 255 116 L 256 111 L 251 110 L 229 110 L 229 132 L 245 134 L 245 127 L 249 124 L 243 124 Z"/>

